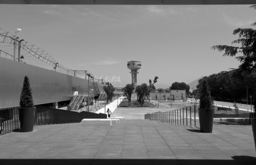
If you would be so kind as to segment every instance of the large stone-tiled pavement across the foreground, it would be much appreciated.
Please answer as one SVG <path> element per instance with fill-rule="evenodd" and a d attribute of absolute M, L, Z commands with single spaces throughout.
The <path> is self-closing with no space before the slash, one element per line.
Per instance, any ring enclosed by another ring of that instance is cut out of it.
<path fill-rule="evenodd" d="M 251 126 L 213 133 L 156 121 L 35 126 L 0 136 L 0 164 L 256 164 Z"/>

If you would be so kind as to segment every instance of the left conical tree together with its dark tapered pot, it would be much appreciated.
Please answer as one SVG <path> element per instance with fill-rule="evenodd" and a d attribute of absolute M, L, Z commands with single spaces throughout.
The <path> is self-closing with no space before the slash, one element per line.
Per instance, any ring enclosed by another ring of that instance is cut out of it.
<path fill-rule="evenodd" d="M 29 84 L 29 77 L 24 77 L 22 94 L 19 100 L 19 121 L 20 131 L 30 132 L 33 131 L 35 122 L 35 107 L 32 98 L 32 91 Z"/>

